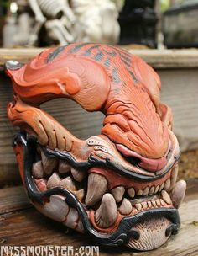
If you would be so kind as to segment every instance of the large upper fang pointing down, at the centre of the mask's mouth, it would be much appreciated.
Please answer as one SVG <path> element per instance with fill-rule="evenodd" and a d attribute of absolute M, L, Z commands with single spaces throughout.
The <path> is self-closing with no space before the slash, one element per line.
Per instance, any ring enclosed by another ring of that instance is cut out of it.
<path fill-rule="evenodd" d="M 107 191 L 107 179 L 97 173 L 90 173 L 87 184 L 86 205 L 95 205 Z"/>

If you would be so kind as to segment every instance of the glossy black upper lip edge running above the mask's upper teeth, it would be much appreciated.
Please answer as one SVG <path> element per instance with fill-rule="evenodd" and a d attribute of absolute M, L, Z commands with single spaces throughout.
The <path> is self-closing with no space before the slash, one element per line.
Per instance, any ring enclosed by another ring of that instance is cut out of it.
<path fill-rule="evenodd" d="M 42 146 L 41 146 L 42 147 Z M 156 176 L 146 176 L 143 174 L 133 173 L 129 171 L 127 168 L 124 168 L 122 165 L 119 165 L 115 162 L 112 162 L 109 158 L 106 158 L 106 161 L 98 160 L 96 157 L 94 157 L 92 154 L 89 156 L 87 162 L 76 162 L 76 159 L 70 155 L 68 152 L 61 152 L 58 149 L 51 150 L 47 147 L 42 147 L 44 154 L 47 157 L 59 157 L 60 159 L 66 160 L 71 166 L 74 168 L 81 168 L 81 169 L 88 169 L 94 166 L 101 166 L 104 168 L 110 168 L 116 173 L 121 174 L 122 176 L 125 176 L 129 179 L 135 179 L 138 181 L 154 181 L 157 179 L 161 179 L 164 177 L 166 173 L 169 173 L 169 170 L 173 168 L 176 162 L 178 162 L 180 156 L 175 156 L 175 161 L 169 165 L 169 167 L 165 170 L 164 173 L 156 175 Z"/>

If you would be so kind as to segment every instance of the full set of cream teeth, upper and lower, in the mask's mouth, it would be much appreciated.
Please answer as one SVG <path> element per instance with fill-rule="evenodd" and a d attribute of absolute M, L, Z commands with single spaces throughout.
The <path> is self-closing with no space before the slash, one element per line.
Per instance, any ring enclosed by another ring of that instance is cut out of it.
<path fill-rule="evenodd" d="M 117 220 L 117 211 L 127 216 L 148 208 L 160 207 L 164 206 L 164 204 L 171 205 L 172 202 L 175 207 L 178 207 L 184 196 L 184 193 L 180 196 L 178 191 L 180 187 L 185 187 L 185 185 L 182 183 L 175 184 L 177 168 L 172 171 L 170 178 L 162 184 L 153 184 L 152 186 L 145 184 L 144 187 L 130 187 L 127 189 L 122 185 L 118 185 L 111 190 L 111 194 L 107 193 L 107 179 L 99 173 L 90 173 L 85 194 L 85 189 L 81 189 L 78 182 L 86 178 L 86 171 L 72 168 L 63 160 L 59 160 L 58 163 L 58 159 L 46 157 L 42 151 L 41 159 L 42 161 L 33 164 L 32 169 L 37 186 L 40 187 L 40 184 L 45 184 L 48 189 L 57 186 L 70 189 L 79 200 L 82 201 L 86 197 L 83 202 L 87 206 L 95 205 L 97 207 L 96 203 L 101 201 L 99 208 L 95 212 L 95 221 L 98 226 L 103 228 L 112 226 Z M 46 177 L 48 177 L 48 181 L 44 180 Z M 170 199 L 166 191 L 172 188 L 174 189 Z M 42 185 L 42 190 L 46 189 Z M 159 192 L 161 192 L 161 197 L 156 195 Z M 127 194 L 131 200 L 127 198 Z M 133 199 L 136 195 L 138 198 Z"/>

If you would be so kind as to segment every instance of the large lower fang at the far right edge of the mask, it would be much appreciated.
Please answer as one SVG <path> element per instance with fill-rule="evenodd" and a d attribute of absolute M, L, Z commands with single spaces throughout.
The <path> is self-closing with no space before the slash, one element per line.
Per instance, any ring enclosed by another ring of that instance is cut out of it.
<path fill-rule="evenodd" d="M 180 180 L 175 184 L 175 186 L 172 190 L 172 193 L 170 195 L 175 208 L 180 207 L 180 204 L 185 197 L 185 189 L 186 189 L 185 180 Z"/>

